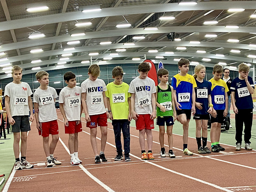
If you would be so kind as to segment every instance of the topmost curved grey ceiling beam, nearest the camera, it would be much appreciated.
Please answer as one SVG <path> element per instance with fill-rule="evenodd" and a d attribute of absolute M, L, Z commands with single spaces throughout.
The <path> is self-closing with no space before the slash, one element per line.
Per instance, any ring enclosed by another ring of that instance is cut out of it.
<path fill-rule="evenodd" d="M 111 17 L 118 15 L 130 15 L 152 12 L 176 12 L 191 10 L 224 10 L 230 8 L 255 9 L 255 1 L 248 1 L 241 5 L 240 1 L 226 2 L 198 2 L 196 5 L 179 5 L 178 3 L 169 4 L 150 4 L 136 6 L 121 6 L 113 8 L 103 8 L 100 12 L 66 12 L 52 15 L 45 15 L 26 19 L 17 19 L 0 22 L 0 31 L 6 31 L 17 28 L 25 28 L 36 25 L 59 23 L 71 20 L 92 19 L 100 17 Z"/>

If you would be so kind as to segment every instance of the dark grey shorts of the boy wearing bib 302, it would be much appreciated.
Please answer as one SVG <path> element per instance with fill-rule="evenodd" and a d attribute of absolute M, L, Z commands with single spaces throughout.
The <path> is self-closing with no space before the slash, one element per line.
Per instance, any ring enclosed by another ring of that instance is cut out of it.
<path fill-rule="evenodd" d="M 29 117 L 24 116 L 13 116 L 15 121 L 14 125 L 10 125 L 11 132 L 27 132 L 30 131 Z"/>

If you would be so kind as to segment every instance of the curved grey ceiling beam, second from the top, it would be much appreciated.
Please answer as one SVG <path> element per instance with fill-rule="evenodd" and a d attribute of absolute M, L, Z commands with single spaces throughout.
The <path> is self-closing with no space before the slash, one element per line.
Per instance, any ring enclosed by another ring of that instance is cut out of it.
<path fill-rule="evenodd" d="M 80 39 L 90 39 L 90 38 L 101 38 L 101 37 L 112 37 L 112 36 L 124 36 L 124 35 L 140 35 L 140 34 L 158 34 L 158 33 L 169 33 L 170 31 L 175 31 L 176 33 L 187 33 L 187 32 L 234 32 L 234 33 L 253 33 L 255 32 L 255 27 L 239 27 L 236 29 L 225 28 L 225 26 L 177 26 L 177 27 L 160 27 L 158 30 L 148 31 L 143 28 L 131 28 L 131 29 L 116 29 L 107 31 L 94 31 L 87 32 L 85 36 L 75 36 L 70 35 L 45 37 L 34 40 L 21 41 L 17 43 L 3 44 L 0 47 L 0 51 L 8 51 L 14 49 L 21 49 L 26 47 L 40 46 L 44 44 L 52 44 L 66 41 L 74 41 Z"/>

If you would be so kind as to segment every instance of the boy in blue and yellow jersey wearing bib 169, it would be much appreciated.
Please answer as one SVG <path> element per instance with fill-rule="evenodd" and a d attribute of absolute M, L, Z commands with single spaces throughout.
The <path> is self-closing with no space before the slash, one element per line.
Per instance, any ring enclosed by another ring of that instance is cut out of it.
<path fill-rule="evenodd" d="M 224 117 L 228 115 L 228 86 L 225 81 L 221 79 L 223 68 L 221 65 L 214 65 L 213 78 L 210 79 L 212 83 L 212 104 L 213 109 L 211 113 L 211 142 L 212 152 L 224 151 L 225 148 L 221 147 L 220 130 Z"/>

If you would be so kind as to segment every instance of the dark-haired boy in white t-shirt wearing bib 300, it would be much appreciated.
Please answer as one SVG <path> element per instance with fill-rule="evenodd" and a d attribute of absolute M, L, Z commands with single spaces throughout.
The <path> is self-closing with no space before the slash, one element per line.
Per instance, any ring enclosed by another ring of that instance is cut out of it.
<path fill-rule="evenodd" d="M 69 134 L 68 148 L 71 156 L 70 164 L 78 165 L 82 161 L 78 158 L 78 132 L 82 131 L 81 87 L 76 86 L 76 75 L 71 71 L 64 74 L 68 86 L 60 91 L 60 112 L 65 122 L 65 133 Z"/>

